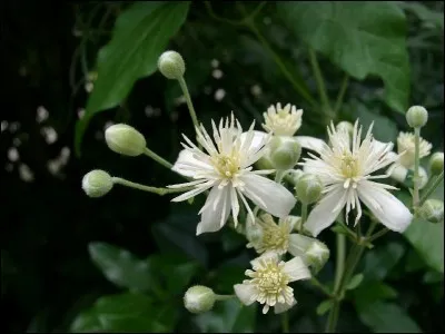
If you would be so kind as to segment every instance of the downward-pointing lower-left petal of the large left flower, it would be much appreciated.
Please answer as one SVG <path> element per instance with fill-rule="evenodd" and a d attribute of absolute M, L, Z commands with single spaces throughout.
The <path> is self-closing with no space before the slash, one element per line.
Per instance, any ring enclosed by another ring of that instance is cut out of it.
<path fill-rule="evenodd" d="M 206 200 L 206 208 L 201 214 L 201 222 L 196 228 L 196 235 L 205 232 L 219 230 L 221 222 L 226 222 L 230 214 L 230 186 L 218 189 L 212 187 Z M 224 225 L 224 224 L 222 224 Z"/>

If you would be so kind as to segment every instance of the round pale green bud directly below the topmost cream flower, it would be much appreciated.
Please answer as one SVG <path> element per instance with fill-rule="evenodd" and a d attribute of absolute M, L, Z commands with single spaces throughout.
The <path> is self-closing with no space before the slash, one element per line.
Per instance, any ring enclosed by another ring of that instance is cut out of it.
<path fill-rule="evenodd" d="M 301 155 L 301 146 L 293 137 L 276 136 L 269 144 L 269 158 L 276 169 L 291 169 Z"/>

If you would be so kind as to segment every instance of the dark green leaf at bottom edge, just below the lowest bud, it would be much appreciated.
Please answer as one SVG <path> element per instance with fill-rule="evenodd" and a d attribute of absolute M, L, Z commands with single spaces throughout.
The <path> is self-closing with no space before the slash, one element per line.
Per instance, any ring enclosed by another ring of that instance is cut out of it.
<path fill-rule="evenodd" d="M 195 317 L 202 333 L 254 333 L 256 304 L 244 306 L 237 298 L 217 302 L 215 307 Z"/>

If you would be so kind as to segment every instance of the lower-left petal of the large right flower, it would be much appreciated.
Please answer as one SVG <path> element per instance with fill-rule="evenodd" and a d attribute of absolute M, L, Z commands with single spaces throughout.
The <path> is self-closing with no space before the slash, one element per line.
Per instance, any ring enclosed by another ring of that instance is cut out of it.
<path fill-rule="evenodd" d="M 337 218 L 338 214 L 345 207 L 346 194 L 347 191 L 345 191 L 343 185 L 338 185 L 313 208 L 304 227 L 309 230 L 314 237 L 326 227 L 329 227 Z"/>

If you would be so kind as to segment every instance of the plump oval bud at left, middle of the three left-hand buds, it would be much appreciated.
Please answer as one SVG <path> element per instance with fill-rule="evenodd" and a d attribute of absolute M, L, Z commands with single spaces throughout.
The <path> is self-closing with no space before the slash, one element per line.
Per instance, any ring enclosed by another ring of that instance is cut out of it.
<path fill-rule="evenodd" d="M 147 146 L 146 138 L 126 124 L 117 124 L 107 128 L 105 139 L 111 150 L 130 157 L 141 155 Z"/>

